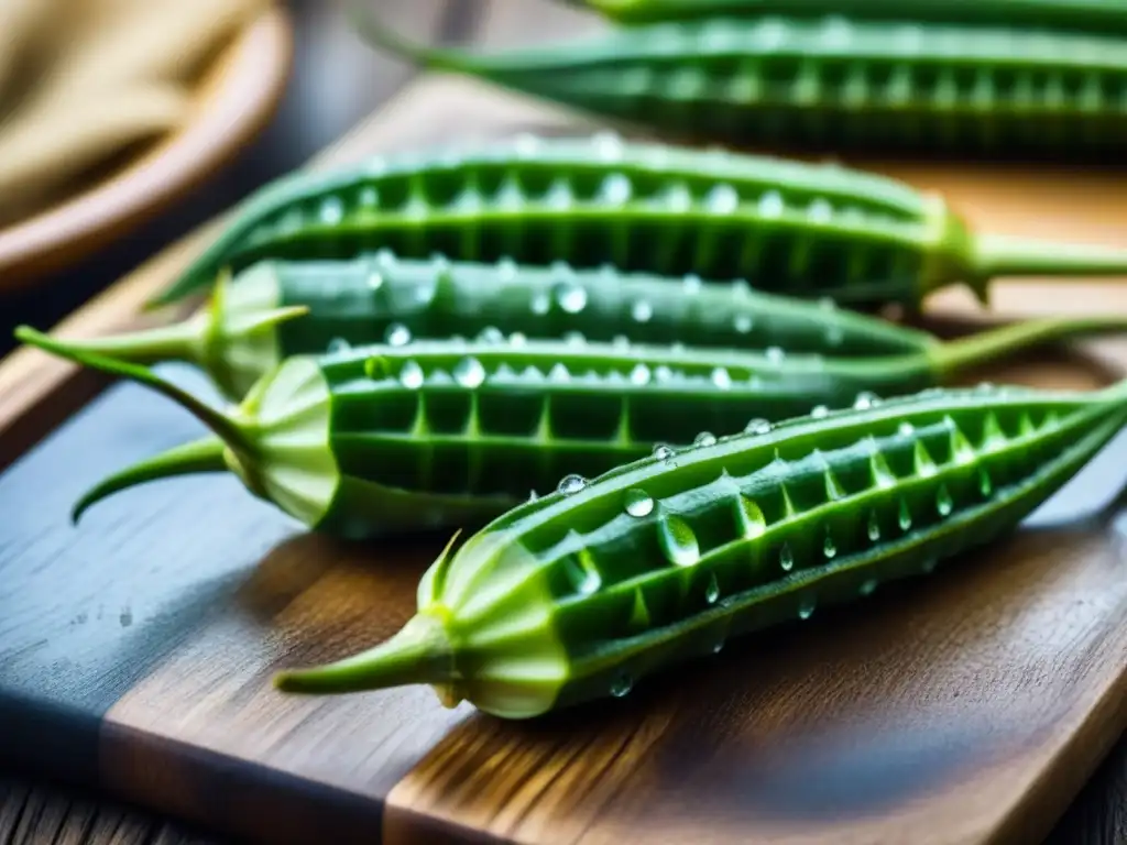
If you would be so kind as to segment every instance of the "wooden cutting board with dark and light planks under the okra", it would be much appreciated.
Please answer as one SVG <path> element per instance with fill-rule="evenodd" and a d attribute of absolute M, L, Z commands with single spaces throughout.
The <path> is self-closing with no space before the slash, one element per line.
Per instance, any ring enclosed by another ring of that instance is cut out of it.
<path fill-rule="evenodd" d="M 425 78 L 317 162 L 570 116 Z M 1127 177 L 887 164 L 995 231 L 1127 240 Z M 61 335 L 137 308 L 214 228 Z M 1127 285 L 1012 283 L 1000 315 L 1127 310 Z M 937 314 L 977 319 L 946 293 Z M 170 319 L 174 315 L 167 315 Z M 193 371 L 165 367 L 213 394 Z M 990 373 L 1094 386 L 1127 346 Z M 105 473 L 199 434 L 34 350 L 0 366 L 0 764 L 275 842 L 1037 842 L 1127 726 L 1122 438 L 1011 539 L 863 605 L 748 638 L 621 701 L 511 723 L 412 687 L 286 697 L 273 673 L 396 631 L 446 537 L 304 533 L 232 478 L 119 495 Z"/>

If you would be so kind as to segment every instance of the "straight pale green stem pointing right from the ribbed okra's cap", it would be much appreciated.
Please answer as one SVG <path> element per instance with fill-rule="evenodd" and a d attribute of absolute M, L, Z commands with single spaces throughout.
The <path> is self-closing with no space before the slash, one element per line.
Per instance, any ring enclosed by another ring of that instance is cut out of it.
<path fill-rule="evenodd" d="M 1098 244 L 1059 243 L 1004 234 L 980 234 L 975 273 L 996 276 L 1127 276 L 1127 250 Z"/>

